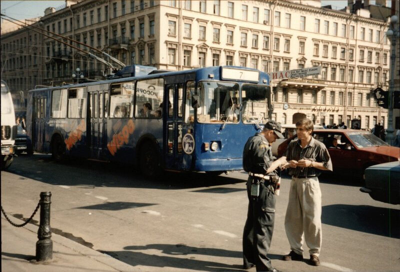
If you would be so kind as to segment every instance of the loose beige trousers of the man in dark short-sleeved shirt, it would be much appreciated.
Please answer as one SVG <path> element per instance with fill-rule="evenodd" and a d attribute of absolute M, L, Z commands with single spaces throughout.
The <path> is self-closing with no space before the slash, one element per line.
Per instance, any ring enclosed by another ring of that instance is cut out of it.
<path fill-rule="evenodd" d="M 303 234 L 309 254 L 319 256 L 321 229 L 321 190 L 317 177 L 292 177 L 284 227 L 290 249 L 303 253 Z"/>

